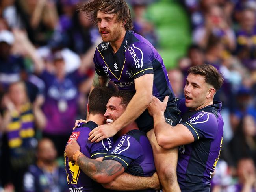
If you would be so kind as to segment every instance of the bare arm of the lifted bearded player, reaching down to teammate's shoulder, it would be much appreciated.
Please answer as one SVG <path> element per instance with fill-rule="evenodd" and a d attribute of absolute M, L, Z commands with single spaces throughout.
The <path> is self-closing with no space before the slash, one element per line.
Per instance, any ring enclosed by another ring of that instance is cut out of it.
<path fill-rule="evenodd" d="M 89 135 L 91 142 L 99 142 L 104 138 L 112 137 L 124 126 L 138 118 L 152 101 L 153 74 L 146 74 L 135 79 L 136 93 L 127 105 L 124 113 L 113 124 L 98 126 Z"/>

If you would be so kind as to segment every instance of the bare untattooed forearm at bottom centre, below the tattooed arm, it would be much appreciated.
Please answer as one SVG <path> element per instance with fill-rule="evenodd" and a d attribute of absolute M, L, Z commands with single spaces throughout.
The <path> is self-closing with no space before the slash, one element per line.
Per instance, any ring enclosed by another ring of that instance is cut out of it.
<path fill-rule="evenodd" d="M 112 182 L 103 184 L 103 186 L 112 190 L 158 190 L 160 189 L 160 182 L 156 173 L 152 177 L 137 177 L 123 173 Z"/>

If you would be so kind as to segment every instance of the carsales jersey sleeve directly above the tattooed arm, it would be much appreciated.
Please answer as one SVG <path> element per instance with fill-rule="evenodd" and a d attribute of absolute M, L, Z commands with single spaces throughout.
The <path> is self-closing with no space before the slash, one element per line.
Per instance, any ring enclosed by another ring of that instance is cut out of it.
<path fill-rule="evenodd" d="M 129 165 L 143 154 L 141 145 L 129 135 L 123 135 L 116 142 L 104 160 L 115 160 L 122 164 L 126 170 Z"/>

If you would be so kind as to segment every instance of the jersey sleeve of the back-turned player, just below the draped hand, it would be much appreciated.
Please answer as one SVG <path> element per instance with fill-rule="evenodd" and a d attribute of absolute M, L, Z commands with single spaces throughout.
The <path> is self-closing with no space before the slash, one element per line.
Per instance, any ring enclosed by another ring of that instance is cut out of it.
<path fill-rule="evenodd" d="M 98 143 L 88 141 L 88 148 L 92 159 L 104 157 L 113 146 L 113 138 L 105 138 Z"/>

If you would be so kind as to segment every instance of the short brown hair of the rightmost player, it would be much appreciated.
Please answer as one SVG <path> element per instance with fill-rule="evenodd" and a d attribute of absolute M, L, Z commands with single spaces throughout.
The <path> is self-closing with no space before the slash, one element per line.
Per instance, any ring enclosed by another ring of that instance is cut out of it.
<path fill-rule="evenodd" d="M 205 82 L 212 85 L 216 92 L 224 82 L 223 74 L 210 64 L 191 66 L 187 72 L 188 74 L 192 73 L 195 75 L 204 76 Z"/>

